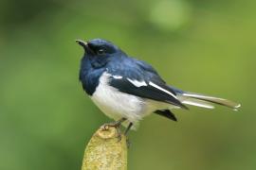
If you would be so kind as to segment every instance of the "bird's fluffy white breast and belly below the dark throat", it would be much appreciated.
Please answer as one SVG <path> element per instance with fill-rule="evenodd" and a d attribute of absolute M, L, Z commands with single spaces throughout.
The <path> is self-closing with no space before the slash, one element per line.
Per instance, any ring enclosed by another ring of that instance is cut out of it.
<path fill-rule="evenodd" d="M 146 100 L 119 92 L 109 85 L 110 76 L 107 73 L 102 74 L 100 83 L 91 97 L 92 100 L 107 116 L 115 120 L 125 117 L 130 122 L 136 123 L 149 112 Z"/>

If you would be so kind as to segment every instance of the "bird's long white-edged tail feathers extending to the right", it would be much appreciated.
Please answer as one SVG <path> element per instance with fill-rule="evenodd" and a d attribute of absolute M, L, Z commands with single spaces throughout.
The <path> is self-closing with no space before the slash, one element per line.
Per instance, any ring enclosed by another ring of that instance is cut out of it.
<path fill-rule="evenodd" d="M 178 97 L 183 104 L 214 109 L 213 104 L 223 105 L 232 110 L 237 110 L 241 105 L 239 103 L 214 96 L 199 94 L 199 93 L 189 93 L 182 92 L 178 93 Z"/>

